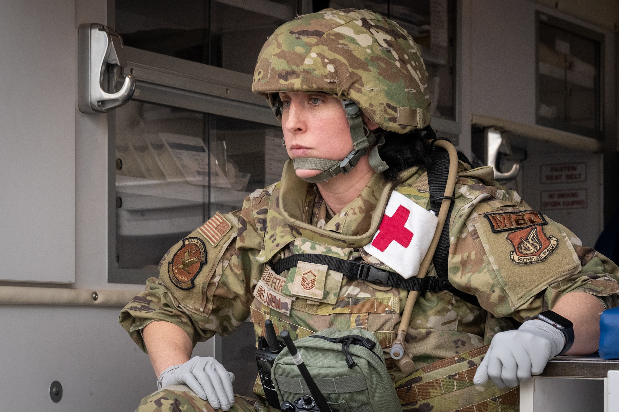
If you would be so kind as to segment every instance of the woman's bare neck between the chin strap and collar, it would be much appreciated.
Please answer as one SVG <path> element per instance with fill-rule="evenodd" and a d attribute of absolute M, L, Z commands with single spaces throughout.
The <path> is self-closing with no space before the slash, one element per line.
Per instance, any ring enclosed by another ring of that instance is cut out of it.
<path fill-rule="evenodd" d="M 316 183 L 322 198 L 335 214 L 352 202 L 376 173 L 370 166 L 369 158 L 369 153 L 360 158 L 348 174 L 340 173 L 326 182 Z"/>

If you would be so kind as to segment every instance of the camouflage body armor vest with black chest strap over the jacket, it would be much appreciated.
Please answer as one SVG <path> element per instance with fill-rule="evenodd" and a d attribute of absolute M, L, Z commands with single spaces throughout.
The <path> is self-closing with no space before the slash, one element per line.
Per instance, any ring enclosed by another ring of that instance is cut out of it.
<path fill-rule="evenodd" d="M 439 158 L 436 165 L 440 164 Z M 288 164 L 286 169 L 288 173 L 294 173 L 292 165 Z M 264 336 L 266 319 L 272 320 L 277 333 L 288 330 L 293 340 L 331 327 L 365 329 L 374 333 L 383 348 L 387 371 L 392 375 L 404 410 L 417 410 L 424 403 L 433 411 L 468 410 L 462 406 L 470 411 L 482 406 L 481 410 L 496 411 L 517 408 L 517 388 L 501 390 L 491 382 L 475 387 L 472 382 L 488 346 L 431 363 L 408 376 L 396 368 L 389 356 L 389 347 L 396 337 L 400 312 L 409 290 L 430 293 L 448 290 L 469 303 L 477 304 L 474 296 L 455 290 L 449 284 L 448 225 L 435 254 L 435 271 L 425 280 L 414 277 L 404 280 L 360 249 L 371 241 L 378 229 L 392 190 L 426 209 L 431 208 L 444 190 L 440 177 L 431 178 L 432 173 L 415 167 L 403 174 L 404 183 L 400 186 L 384 186 L 371 214 L 370 229 L 355 236 L 306 223 L 308 212 L 303 210 L 303 203 L 298 199 L 304 198 L 308 187 L 302 184 L 288 186 L 287 179 L 283 178 L 271 196 L 265 223 L 265 247 L 257 257 L 266 265 L 251 306 L 256 334 Z M 407 184 L 409 179 L 420 181 L 423 175 L 428 176 L 430 191 Z M 373 179 L 381 177 L 376 174 Z M 259 379 L 254 392 L 262 393 Z"/>

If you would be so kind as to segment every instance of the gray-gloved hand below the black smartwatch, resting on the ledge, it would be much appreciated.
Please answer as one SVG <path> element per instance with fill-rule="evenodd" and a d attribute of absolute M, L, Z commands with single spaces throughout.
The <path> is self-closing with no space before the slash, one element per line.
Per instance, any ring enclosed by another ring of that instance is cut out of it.
<path fill-rule="evenodd" d="M 482 385 L 488 377 L 497 387 L 516 387 L 531 375 L 539 375 L 550 359 L 563 350 L 563 333 L 541 320 L 527 320 L 518 330 L 495 335 L 477 368 L 473 382 Z"/>

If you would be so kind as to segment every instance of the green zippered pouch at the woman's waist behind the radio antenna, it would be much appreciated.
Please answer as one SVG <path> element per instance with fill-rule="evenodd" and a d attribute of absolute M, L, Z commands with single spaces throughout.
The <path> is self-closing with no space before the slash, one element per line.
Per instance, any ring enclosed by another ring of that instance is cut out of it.
<path fill-rule="evenodd" d="M 328 328 L 296 340 L 295 346 L 332 411 L 402 411 L 374 333 Z M 271 376 L 280 402 L 310 394 L 287 348 L 275 359 Z"/>

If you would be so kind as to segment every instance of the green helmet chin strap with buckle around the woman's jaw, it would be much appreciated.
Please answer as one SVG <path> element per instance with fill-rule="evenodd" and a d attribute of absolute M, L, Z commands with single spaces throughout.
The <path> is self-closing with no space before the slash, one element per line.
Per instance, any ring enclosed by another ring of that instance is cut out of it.
<path fill-rule="evenodd" d="M 350 137 L 352 138 L 353 150 L 348 153 L 344 160 L 329 160 L 313 157 L 303 157 L 293 160 L 295 170 L 322 170 L 322 173 L 311 178 L 301 178 L 306 182 L 319 183 L 327 181 L 340 173 L 347 174 L 353 167 L 357 166 L 359 159 L 368 153 L 368 147 L 377 141 L 378 144 L 370 151 L 370 166 L 376 173 L 381 173 L 389 168 L 387 163 L 385 163 L 378 154 L 378 149 L 384 145 L 384 136 L 382 134 L 373 134 L 369 129 L 363 126 L 361 109 L 357 103 L 352 100 L 344 100 L 342 101 L 342 106 L 344 106 L 346 118 L 350 125 Z"/>

